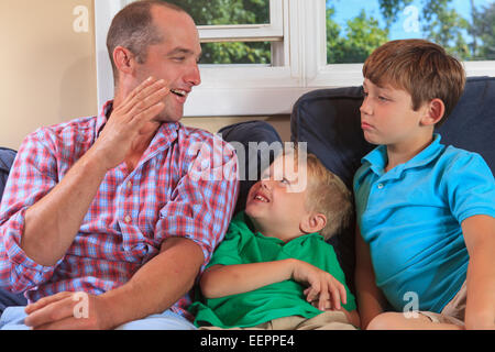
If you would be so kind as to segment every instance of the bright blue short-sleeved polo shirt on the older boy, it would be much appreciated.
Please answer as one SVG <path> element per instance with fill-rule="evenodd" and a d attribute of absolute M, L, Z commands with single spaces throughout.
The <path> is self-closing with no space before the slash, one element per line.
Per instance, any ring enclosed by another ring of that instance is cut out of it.
<path fill-rule="evenodd" d="M 362 163 L 354 176 L 358 223 L 377 287 L 397 311 L 414 293 L 420 310 L 440 312 L 466 278 L 461 222 L 475 215 L 495 217 L 490 167 L 476 153 L 441 144 L 439 134 L 387 173 L 385 145 Z"/>

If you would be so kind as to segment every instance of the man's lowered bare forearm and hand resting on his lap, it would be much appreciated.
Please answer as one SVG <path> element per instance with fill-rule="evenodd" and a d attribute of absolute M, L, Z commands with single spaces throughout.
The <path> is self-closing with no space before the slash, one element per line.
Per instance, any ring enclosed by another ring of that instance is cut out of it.
<path fill-rule="evenodd" d="M 90 296 L 87 318 L 74 316 L 74 294 L 62 293 L 26 307 L 25 324 L 35 329 L 113 329 L 124 322 L 163 312 L 190 290 L 204 262 L 191 240 L 170 238 L 161 253 L 124 285 Z"/>

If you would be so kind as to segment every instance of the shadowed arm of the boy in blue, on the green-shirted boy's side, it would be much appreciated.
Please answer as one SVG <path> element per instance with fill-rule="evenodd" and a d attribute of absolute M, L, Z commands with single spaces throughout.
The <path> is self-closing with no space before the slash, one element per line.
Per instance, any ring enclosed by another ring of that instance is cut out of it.
<path fill-rule="evenodd" d="M 361 237 L 359 226 L 355 231 L 355 290 L 361 328 L 366 329 L 370 321 L 384 311 L 386 298 L 376 287 L 375 273 L 370 255 L 370 246 Z"/>

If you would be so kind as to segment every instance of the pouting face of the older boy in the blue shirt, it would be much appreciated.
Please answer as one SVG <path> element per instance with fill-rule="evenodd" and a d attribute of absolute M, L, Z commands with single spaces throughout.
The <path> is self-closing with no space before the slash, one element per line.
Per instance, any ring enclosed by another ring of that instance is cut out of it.
<path fill-rule="evenodd" d="M 413 110 L 411 96 L 392 86 L 378 87 L 364 79 L 364 100 L 360 108 L 364 138 L 372 144 L 414 145 L 424 138 L 420 129 L 428 105 Z"/>

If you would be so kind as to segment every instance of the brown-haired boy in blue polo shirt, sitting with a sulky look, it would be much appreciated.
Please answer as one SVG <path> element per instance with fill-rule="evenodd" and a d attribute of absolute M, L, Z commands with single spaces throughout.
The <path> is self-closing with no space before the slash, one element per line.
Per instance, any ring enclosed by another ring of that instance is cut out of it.
<path fill-rule="evenodd" d="M 494 177 L 433 133 L 462 95 L 463 67 L 404 40 L 378 47 L 363 76 L 361 127 L 378 146 L 354 176 L 362 327 L 494 329 Z"/>

